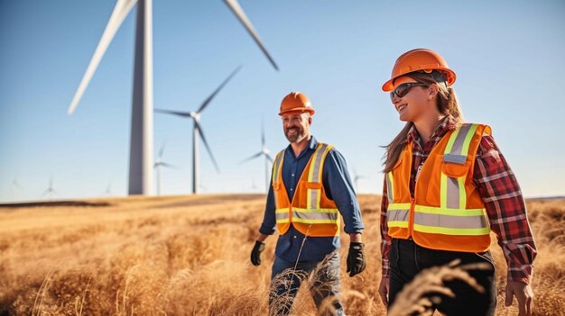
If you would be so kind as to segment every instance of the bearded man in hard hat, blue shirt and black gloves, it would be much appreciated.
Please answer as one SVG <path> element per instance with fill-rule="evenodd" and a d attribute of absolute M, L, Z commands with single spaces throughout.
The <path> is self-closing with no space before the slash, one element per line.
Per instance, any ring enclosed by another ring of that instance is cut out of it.
<path fill-rule="evenodd" d="M 264 239 L 276 226 L 280 236 L 271 277 L 271 315 L 291 311 L 301 281 L 312 272 L 310 293 L 321 314 L 345 314 L 338 298 L 339 214 L 349 234 L 349 276 L 366 266 L 361 240 L 364 226 L 345 158 L 310 135 L 313 114 L 310 99 L 300 92 L 282 99 L 279 115 L 291 144 L 273 162 L 264 220 L 251 252 L 251 262 L 259 266 Z"/>

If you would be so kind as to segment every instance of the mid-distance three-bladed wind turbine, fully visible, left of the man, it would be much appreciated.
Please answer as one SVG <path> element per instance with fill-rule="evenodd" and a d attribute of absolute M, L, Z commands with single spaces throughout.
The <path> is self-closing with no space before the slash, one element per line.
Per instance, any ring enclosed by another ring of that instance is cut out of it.
<path fill-rule="evenodd" d="M 157 113 L 166 113 L 166 114 L 181 116 L 183 118 L 190 118 L 192 119 L 192 122 L 194 122 L 194 125 L 192 127 L 192 193 L 193 194 L 197 194 L 199 191 L 199 138 L 201 138 L 202 142 L 204 142 L 204 146 L 208 150 L 208 154 L 210 155 L 210 158 L 214 163 L 214 167 L 216 167 L 216 171 L 219 172 L 218 163 L 216 163 L 216 159 L 212 154 L 212 150 L 208 146 L 208 141 L 206 140 L 206 137 L 204 137 L 204 131 L 202 131 L 202 127 L 200 126 L 199 123 L 200 113 L 202 113 L 202 111 L 206 109 L 206 107 L 208 106 L 208 104 L 210 104 L 212 99 L 214 99 L 214 97 L 218 95 L 218 92 L 224 86 L 226 86 L 227 82 L 236 75 L 239 69 L 241 69 L 241 66 L 239 66 L 238 68 L 236 68 L 236 70 L 232 71 L 232 73 L 229 74 L 226 80 L 224 80 L 224 82 L 222 82 L 222 84 L 218 86 L 218 88 L 211 95 L 209 95 L 208 98 L 204 100 L 202 104 L 200 104 L 200 107 L 196 112 L 179 112 L 179 111 L 155 109 L 155 112 Z"/>

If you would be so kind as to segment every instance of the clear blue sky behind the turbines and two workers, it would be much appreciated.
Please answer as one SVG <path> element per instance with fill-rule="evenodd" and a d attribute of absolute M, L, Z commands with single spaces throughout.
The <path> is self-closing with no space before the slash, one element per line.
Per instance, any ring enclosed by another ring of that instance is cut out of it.
<path fill-rule="evenodd" d="M 0 0 L 0 203 L 125 195 L 135 9 L 79 106 L 70 101 L 114 1 Z M 261 192 L 261 148 L 286 146 L 277 109 L 292 90 L 310 96 L 312 132 L 334 144 L 380 194 L 384 149 L 403 126 L 380 90 L 406 50 L 437 50 L 458 75 L 468 122 L 493 128 L 526 197 L 565 194 L 565 3 L 562 1 L 249 1 L 240 5 L 280 67 L 275 71 L 220 0 L 153 2 L 154 107 L 194 111 L 239 65 L 202 113 L 220 167 L 200 150 L 205 193 Z M 191 123 L 155 114 L 162 194 L 190 193 Z M 16 185 L 14 185 L 14 181 Z"/>

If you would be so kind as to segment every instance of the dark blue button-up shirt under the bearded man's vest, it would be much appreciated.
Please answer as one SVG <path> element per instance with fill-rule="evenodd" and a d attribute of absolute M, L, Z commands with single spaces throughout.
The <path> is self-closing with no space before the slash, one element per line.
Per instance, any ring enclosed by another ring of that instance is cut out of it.
<path fill-rule="evenodd" d="M 291 145 L 284 150 L 284 160 L 282 162 L 282 182 L 286 186 L 286 193 L 289 201 L 292 201 L 294 191 L 301 178 L 304 168 L 308 164 L 310 157 L 316 150 L 318 141 L 312 136 L 309 145 L 302 150 L 298 157 L 294 156 Z M 271 176 L 273 177 L 273 176 Z M 271 178 L 273 184 L 273 178 Z M 338 210 L 345 223 L 344 230 L 350 234 L 361 232 L 364 228 L 361 220 L 361 211 L 357 196 L 351 184 L 349 173 L 347 172 L 346 160 L 336 149 L 330 149 L 324 161 L 322 173 L 322 185 L 326 190 L 326 195 L 338 206 Z M 265 235 L 273 235 L 276 229 L 276 219 L 274 215 L 274 193 L 273 185 L 269 188 L 267 204 L 264 210 L 264 219 L 259 231 Z M 296 230 L 291 224 L 290 229 L 279 236 L 274 251 L 275 255 L 287 261 L 296 261 L 301 249 L 304 234 Z M 299 261 L 321 260 L 330 252 L 339 248 L 339 237 L 308 237 L 304 242 Z"/>

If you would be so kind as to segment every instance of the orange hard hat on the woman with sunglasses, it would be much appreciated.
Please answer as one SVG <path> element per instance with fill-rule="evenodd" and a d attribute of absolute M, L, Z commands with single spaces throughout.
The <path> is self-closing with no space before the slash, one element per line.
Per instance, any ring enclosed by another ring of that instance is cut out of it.
<path fill-rule="evenodd" d="M 453 85 L 456 79 L 455 72 L 449 69 L 448 63 L 440 54 L 433 50 L 416 49 L 409 50 L 400 55 L 394 63 L 393 74 L 390 80 L 384 83 L 383 91 L 394 90 L 394 79 L 414 71 L 423 71 L 431 74 L 433 70 L 439 70 L 446 77 L 448 86 Z"/>

